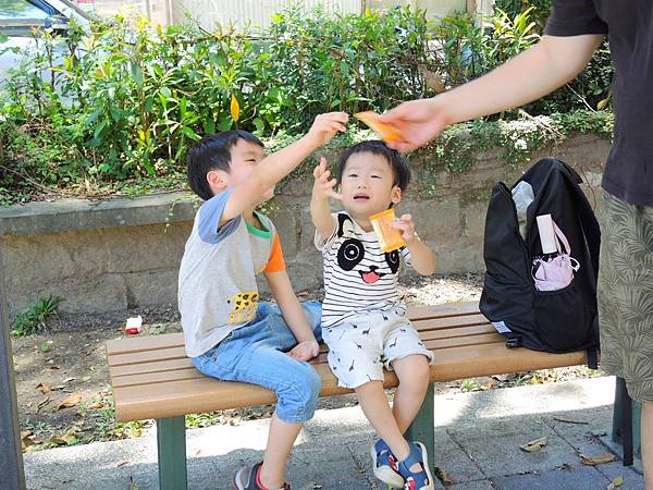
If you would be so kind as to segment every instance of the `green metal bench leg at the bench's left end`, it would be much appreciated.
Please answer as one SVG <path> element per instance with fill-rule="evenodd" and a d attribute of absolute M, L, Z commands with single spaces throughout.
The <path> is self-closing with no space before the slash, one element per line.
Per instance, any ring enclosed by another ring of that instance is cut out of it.
<path fill-rule="evenodd" d="M 157 449 L 159 451 L 159 488 L 185 490 L 186 420 L 184 416 L 157 419 Z"/>

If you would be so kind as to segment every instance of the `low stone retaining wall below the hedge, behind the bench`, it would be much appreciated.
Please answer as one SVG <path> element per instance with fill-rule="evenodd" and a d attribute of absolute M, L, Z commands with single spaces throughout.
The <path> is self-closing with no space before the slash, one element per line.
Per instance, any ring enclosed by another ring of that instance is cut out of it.
<path fill-rule="evenodd" d="M 532 161 L 552 156 L 571 164 L 595 205 L 608 149 L 609 143 L 600 137 L 579 135 Z M 433 198 L 405 195 L 399 209 L 414 216 L 421 238 L 435 250 L 438 273 L 483 270 L 483 226 L 492 186 L 497 181 L 512 183 L 523 170 L 508 169 L 500 155 L 477 155 L 465 173 L 441 171 Z M 285 185 L 276 198 L 279 209 L 271 213 L 296 291 L 321 283 L 321 257 L 312 245 L 308 215 L 310 188 L 307 180 Z M 71 313 L 176 303 L 178 264 L 195 206 L 188 195 L 175 193 L 0 209 L 0 253 L 11 314 L 48 295 L 63 297 L 60 309 Z"/>

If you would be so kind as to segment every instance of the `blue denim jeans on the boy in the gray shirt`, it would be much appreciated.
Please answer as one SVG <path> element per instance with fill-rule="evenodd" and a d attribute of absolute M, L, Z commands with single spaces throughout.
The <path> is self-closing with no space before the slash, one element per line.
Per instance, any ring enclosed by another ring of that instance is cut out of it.
<path fill-rule="evenodd" d="M 303 304 L 318 342 L 322 305 Z M 276 394 L 276 416 L 285 422 L 310 420 L 322 381 L 315 368 L 285 354 L 297 344 L 278 306 L 259 303 L 256 318 L 232 331 L 210 351 L 193 358 L 202 373 L 224 381 L 268 388 Z"/>

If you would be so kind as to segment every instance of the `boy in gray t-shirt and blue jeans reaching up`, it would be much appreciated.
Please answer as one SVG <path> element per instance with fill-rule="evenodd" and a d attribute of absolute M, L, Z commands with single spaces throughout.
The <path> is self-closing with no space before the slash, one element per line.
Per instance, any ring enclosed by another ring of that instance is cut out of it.
<path fill-rule="evenodd" d="M 238 490 L 289 489 L 287 457 L 321 388 L 307 363 L 319 352 L 320 305 L 299 304 L 274 225 L 255 208 L 304 158 L 344 132 L 347 120 L 344 112 L 318 115 L 307 135 L 268 157 L 244 131 L 207 136 L 188 154 L 188 183 L 205 203 L 180 268 L 186 354 L 207 376 L 259 384 L 279 399 L 263 461 L 236 471 Z M 258 302 L 260 272 L 278 306 Z"/>

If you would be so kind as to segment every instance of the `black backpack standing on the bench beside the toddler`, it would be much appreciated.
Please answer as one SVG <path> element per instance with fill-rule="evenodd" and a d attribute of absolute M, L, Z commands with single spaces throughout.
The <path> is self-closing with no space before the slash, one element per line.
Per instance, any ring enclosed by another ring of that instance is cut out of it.
<path fill-rule="evenodd" d="M 543 159 L 519 182 L 528 182 L 534 200 L 527 211 L 527 236 L 519 233 L 512 188 L 494 186 L 485 218 L 483 259 L 485 280 L 480 309 L 506 335 L 509 347 L 565 353 L 588 351 L 596 367 L 599 318 L 596 277 L 600 230 L 579 184 L 582 180 L 566 163 Z M 580 262 L 571 283 L 558 291 L 538 291 L 532 260 L 542 255 L 535 217 L 551 215 L 563 230 L 571 255 Z"/>

